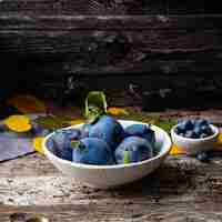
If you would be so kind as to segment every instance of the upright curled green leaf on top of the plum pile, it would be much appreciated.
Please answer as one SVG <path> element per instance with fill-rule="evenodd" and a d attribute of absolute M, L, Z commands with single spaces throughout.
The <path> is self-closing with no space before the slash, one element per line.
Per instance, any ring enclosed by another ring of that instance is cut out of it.
<path fill-rule="evenodd" d="M 89 92 L 84 103 L 88 122 L 94 122 L 100 115 L 107 113 L 108 104 L 105 95 L 101 91 Z"/>

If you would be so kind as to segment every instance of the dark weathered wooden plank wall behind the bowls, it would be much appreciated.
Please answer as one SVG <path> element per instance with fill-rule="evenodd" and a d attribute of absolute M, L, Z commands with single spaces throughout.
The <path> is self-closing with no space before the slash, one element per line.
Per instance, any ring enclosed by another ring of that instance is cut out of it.
<path fill-rule="evenodd" d="M 0 0 L 1 97 L 62 94 L 73 77 L 75 93 L 104 89 L 115 104 L 220 107 L 221 11 L 201 0 Z"/>

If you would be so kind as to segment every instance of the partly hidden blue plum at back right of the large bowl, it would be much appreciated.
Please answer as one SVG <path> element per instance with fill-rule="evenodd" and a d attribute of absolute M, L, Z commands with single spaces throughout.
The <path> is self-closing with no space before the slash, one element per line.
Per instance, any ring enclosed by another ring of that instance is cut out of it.
<path fill-rule="evenodd" d="M 137 135 L 147 139 L 152 145 L 155 143 L 154 131 L 150 129 L 148 124 L 132 124 L 125 128 L 125 135 Z"/>

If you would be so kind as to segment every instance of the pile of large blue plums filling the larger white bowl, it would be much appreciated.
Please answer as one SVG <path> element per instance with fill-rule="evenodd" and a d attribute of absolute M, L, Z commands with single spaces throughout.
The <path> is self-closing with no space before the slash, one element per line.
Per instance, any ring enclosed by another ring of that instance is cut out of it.
<path fill-rule="evenodd" d="M 102 115 L 81 129 L 58 130 L 47 147 L 57 157 L 75 163 L 110 165 L 139 162 L 154 155 L 154 131 L 148 124 L 125 129 Z"/>

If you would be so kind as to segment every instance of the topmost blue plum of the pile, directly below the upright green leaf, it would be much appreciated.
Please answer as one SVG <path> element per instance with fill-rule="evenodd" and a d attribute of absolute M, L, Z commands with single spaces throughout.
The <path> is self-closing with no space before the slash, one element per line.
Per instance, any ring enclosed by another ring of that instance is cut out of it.
<path fill-rule="evenodd" d="M 124 138 L 122 125 L 112 117 L 102 115 L 89 130 L 89 138 L 104 140 L 114 151 Z"/>

